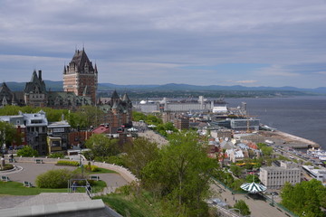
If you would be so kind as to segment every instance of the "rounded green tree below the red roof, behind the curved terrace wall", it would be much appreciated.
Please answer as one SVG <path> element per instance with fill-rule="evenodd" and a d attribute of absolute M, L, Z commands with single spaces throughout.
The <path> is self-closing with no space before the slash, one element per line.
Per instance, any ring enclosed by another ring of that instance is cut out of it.
<path fill-rule="evenodd" d="M 93 157 L 115 156 L 120 153 L 117 139 L 110 139 L 103 134 L 94 134 L 87 141 Z"/>

